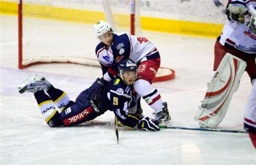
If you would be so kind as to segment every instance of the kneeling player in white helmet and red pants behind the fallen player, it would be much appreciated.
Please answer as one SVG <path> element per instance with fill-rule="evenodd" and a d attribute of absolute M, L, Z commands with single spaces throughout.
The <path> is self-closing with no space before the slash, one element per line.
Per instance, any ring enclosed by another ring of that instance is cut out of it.
<path fill-rule="evenodd" d="M 159 124 L 170 121 L 167 103 L 152 83 L 160 67 L 160 55 L 155 45 L 144 37 L 127 33 L 114 33 L 109 23 L 99 21 L 94 32 L 100 43 L 96 47 L 96 56 L 101 65 L 103 79 L 111 81 L 117 76 L 118 63 L 122 59 L 132 59 L 138 65 L 138 76 L 134 82 L 135 91 L 155 110 L 155 119 Z M 97 90 L 97 89 L 96 89 Z M 89 98 L 90 96 L 89 92 Z"/>

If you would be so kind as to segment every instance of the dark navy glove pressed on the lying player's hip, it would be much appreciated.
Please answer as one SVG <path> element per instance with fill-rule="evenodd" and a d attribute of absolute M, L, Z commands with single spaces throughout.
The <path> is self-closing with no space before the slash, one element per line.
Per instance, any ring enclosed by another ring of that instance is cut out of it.
<path fill-rule="evenodd" d="M 90 86 L 87 92 L 88 100 L 98 101 L 101 97 L 101 91 L 104 88 L 106 82 L 103 78 L 97 78 L 96 81 Z"/>

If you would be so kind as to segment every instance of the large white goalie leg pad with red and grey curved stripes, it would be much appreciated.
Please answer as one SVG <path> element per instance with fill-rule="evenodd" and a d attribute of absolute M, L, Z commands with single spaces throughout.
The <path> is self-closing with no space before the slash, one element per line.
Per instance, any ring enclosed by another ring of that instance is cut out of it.
<path fill-rule="evenodd" d="M 246 62 L 240 58 L 229 53 L 224 56 L 194 117 L 200 126 L 215 128 L 222 121 L 245 68 Z"/>

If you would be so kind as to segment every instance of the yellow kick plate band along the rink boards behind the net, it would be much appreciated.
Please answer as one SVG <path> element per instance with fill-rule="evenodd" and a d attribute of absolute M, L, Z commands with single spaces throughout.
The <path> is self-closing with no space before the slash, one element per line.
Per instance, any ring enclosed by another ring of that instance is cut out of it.
<path fill-rule="evenodd" d="M 95 23 L 99 20 L 105 20 L 103 12 L 81 10 L 81 9 L 68 9 L 61 7 L 42 6 L 42 5 L 31 5 L 26 4 L 24 8 L 29 7 L 33 10 L 41 12 L 38 18 L 55 19 L 63 21 L 72 21 L 80 23 Z M 16 2 L 5 2 L 0 1 L 0 13 L 1 14 L 15 14 L 17 15 L 17 3 Z M 82 16 L 79 19 L 74 19 L 77 15 L 98 15 L 97 17 L 90 17 L 87 19 L 86 16 Z M 25 16 L 31 16 L 29 13 L 24 13 Z M 118 26 L 125 27 L 123 21 L 127 20 L 129 15 L 114 14 L 115 22 L 119 23 Z M 150 30 L 165 33 L 176 33 L 203 37 L 217 37 L 220 35 L 224 25 L 215 23 L 203 23 L 193 22 L 184 20 L 172 20 L 163 18 L 153 18 L 141 16 L 142 30 Z"/>

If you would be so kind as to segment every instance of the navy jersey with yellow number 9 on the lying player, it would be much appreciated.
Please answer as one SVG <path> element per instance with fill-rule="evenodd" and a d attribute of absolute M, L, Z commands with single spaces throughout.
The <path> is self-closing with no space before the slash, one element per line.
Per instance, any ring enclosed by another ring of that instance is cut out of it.
<path fill-rule="evenodd" d="M 125 84 L 119 77 L 108 83 L 103 90 L 100 109 L 112 110 L 120 125 L 135 127 L 139 121 L 136 117 L 139 106 L 137 94 L 133 93 L 132 87 Z"/>

